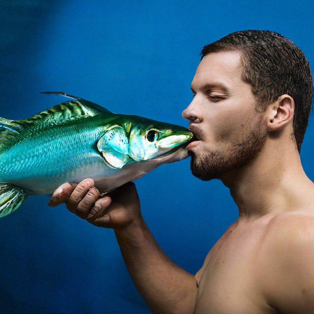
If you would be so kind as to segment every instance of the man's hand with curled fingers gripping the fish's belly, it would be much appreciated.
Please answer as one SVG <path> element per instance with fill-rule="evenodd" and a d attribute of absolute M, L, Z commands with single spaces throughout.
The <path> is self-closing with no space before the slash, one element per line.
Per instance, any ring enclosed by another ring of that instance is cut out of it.
<path fill-rule="evenodd" d="M 94 180 L 85 179 L 76 186 L 63 183 L 53 193 L 49 206 L 66 203 L 70 212 L 92 225 L 121 230 L 142 219 L 135 184 L 129 182 L 99 198 Z"/>

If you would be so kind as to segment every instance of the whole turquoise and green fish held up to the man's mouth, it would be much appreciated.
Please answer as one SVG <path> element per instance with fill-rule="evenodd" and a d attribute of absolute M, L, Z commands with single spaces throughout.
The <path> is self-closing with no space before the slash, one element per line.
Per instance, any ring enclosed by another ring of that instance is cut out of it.
<path fill-rule="evenodd" d="M 187 157 L 193 133 L 185 127 L 41 93 L 72 100 L 27 119 L 0 118 L 0 218 L 64 182 L 92 178 L 99 191 L 111 191 Z"/>

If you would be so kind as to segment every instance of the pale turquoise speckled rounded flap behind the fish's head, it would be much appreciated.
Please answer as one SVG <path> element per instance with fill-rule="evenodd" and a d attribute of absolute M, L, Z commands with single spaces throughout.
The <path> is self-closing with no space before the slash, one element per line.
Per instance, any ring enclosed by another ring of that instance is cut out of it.
<path fill-rule="evenodd" d="M 100 137 L 97 149 L 107 165 L 112 168 L 121 169 L 133 161 L 129 156 L 129 139 L 124 128 L 118 125 L 111 127 Z"/>

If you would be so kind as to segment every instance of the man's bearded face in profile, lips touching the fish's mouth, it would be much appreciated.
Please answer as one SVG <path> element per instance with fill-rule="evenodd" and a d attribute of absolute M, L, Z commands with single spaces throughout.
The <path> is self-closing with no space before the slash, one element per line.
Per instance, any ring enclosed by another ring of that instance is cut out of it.
<path fill-rule="evenodd" d="M 182 116 L 200 139 L 187 146 L 192 174 L 221 178 L 252 160 L 266 141 L 263 113 L 255 109 L 251 86 L 241 79 L 239 52 L 210 53 L 200 62 L 191 89 L 195 95 Z"/>

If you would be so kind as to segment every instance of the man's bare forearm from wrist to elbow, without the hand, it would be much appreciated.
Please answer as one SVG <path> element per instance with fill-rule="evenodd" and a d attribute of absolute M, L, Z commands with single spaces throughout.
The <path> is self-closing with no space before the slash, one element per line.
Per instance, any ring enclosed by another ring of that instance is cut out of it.
<path fill-rule="evenodd" d="M 123 259 L 138 292 L 153 313 L 193 313 L 195 277 L 161 250 L 143 220 L 115 230 Z"/>

